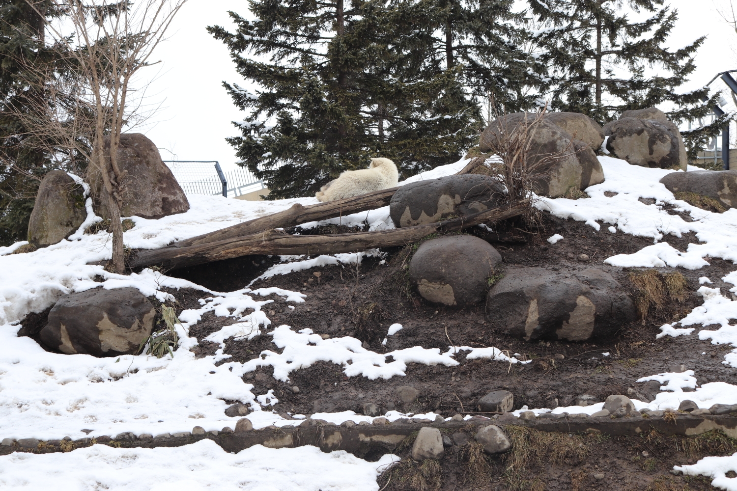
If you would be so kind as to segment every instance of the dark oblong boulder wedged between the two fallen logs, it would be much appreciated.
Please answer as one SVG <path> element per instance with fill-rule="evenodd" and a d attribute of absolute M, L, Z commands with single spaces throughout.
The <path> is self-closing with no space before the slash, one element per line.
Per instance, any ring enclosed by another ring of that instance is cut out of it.
<path fill-rule="evenodd" d="M 500 205 L 503 188 L 478 174 L 419 181 L 400 187 L 389 203 L 395 227 L 439 222 L 448 216 L 468 216 Z"/>

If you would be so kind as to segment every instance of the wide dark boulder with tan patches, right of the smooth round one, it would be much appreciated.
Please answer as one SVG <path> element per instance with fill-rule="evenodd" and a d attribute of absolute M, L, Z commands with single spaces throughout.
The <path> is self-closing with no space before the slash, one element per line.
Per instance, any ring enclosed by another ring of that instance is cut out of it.
<path fill-rule="evenodd" d="M 585 341 L 609 337 L 635 320 L 635 304 L 601 269 L 509 269 L 486 298 L 492 328 L 525 339 Z"/>

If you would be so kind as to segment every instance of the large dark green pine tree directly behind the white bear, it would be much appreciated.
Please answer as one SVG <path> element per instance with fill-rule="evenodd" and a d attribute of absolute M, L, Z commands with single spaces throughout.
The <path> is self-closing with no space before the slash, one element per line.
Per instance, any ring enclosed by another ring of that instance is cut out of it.
<path fill-rule="evenodd" d="M 254 21 L 230 13 L 236 32 L 209 32 L 258 87 L 224 83 L 248 110 L 228 141 L 271 198 L 313 194 L 370 157 L 393 159 L 406 177 L 471 146 L 480 113 L 461 70 L 403 68 L 411 17 L 380 0 L 252 0 L 250 10 Z"/>

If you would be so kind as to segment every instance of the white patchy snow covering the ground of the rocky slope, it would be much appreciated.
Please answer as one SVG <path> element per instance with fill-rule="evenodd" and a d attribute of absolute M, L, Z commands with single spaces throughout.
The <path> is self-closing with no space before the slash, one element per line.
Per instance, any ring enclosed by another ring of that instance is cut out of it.
<path fill-rule="evenodd" d="M 674 199 L 673 194 L 658 182 L 663 175 L 672 171 L 630 166 L 623 160 L 607 157 L 600 160 L 606 180 L 587 188 L 590 199 L 542 198 L 537 206 L 562 218 L 586 222 L 598 233 L 627 233 L 653 240 L 652 246 L 634 254 L 612 256 L 605 262 L 615 266 L 668 265 L 699 269 L 708 264 L 707 257 L 735 261 L 737 210 L 710 213 Z M 461 160 L 450 166 L 442 166 L 405 183 L 454 174 L 466 163 L 467 160 Z M 605 191 L 618 194 L 607 197 Z M 655 203 L 647 205 L 638 200 L 640 197 L 652 198 Z M 144 249 L 161 247 L 175 240 L 284 210 L 295 202 L 303 205 L 316 202 L 314 198 L 248 202 L 204 196 L 190 196 L 189 200 L 191 208 L 186 213 L 158 220 L 132 217 L 136 227 L 125 233 L 125 244 Z M 694 221 L 685 222 L 680 216 L 668 214 L 662 209 L 666 203 L 688 211 Z M 393 227 L 388 218 L 388 207 L 331 219 L 329 222 L 344 225 L 368 222 L 371 230 Z M 600 223 L 608 226 L 601 230 Z M 315 225 L 306 224 L 304 227 Z M 681 236 L 683 233 L 695 233 L 699 244 L 690 244 L 688 250 L 679 252 L 660 242 L 664 235 Z M 296 332 L 288 325 L 272 325 L 265 305 L 274 302 L 274 299 L 287 304 L 301 303 L 306 294 L 275 288 L 212 292 L 150 269 L 133 275 L 116 275 L 105 272 L 102 266 L 90 264 L 111 257 L 107 233 L 100 232 L 94 236 L 79 233 L 75 239 L 18 255 L 10 255 L 10 252 L 23 243 L 0 248 L 0 439 L 60 439 L 67 436 L 77 439 L 87 436 L 81 431 L 83 429 L 93 430 L 90 437 L 114 437 L 125 431 L 154 435 L 191 431 L 195 425 L 202 426 L 206 431 L 220 430 L 224 426 L 232 428 L 237 418 L 225 416 L 225 399 L 248 404 L 253 411 L 249 419 L 255 428 L 291 424 L 292 420 L 284 420 L 279 414 L 270 411 L 270 406 L 277 402 L 273 393 L 255 397 L 251 392 L 253 386 L 242 381 L 241 377 L 246 372 L 264 365 L 274 368 L 275 378 L 287 381 L 290 372 L 309 367 L 316 361 L 339 364 L 349 376 L 388 379 L 405 375 L 409 362 L 446 366 L 458 364 L 454 356 L 459 350 L 469 352 L 467 358 L 484 358 L 489 363 L 522 363 L 516 358 L 509 358 L 497 347 L 449 346 L 447 350 L 439 350 L 417 346 L 391 353 L 374 353 L 349 336 L 322 339 L 309 329 Z M 555 240 L 551 240 L 553 247 L 560 243 L 565 243 L 565 237 L 556 236 Z M 380 251 L 365 254 L 376 255 Z M 349 263 L 360 261 L 361 258 L 363 255 L 354 254 L 318 258 L 284 257 L 284 263 L 273 266 L 262 276 L 266 278 L 326 264 Z M 737 292 L 737 266 L 735 269 L 735 272 L 722 278 L 736 285 L 733 292 Z M 709 282 L 708 278 L 702 278 L 704 286 L 699 289 L 705 299 L 704 304 L 680 322 L 664 325 L 661 336 L 691 333 L 693 328 L 688 327 L 691 325 L 717 325 L 719 327 L 716 329 L 699 331 L 699 338 L 711 339 L 714 344 L 732 345 L 735 350 L 725 356 L 724 364 L 737 367 L 737 326 L 730 325 L 730 319 L 737 318 L 737 302 L 724 297 L 719 289 L 710 288 Z M 32 339 L 16 336 L 21 327 L 20 319 L 29 312 L 43 311 L 62 294 L 83 292 L 98 286 L 105 289 L 133 286 L 144 295 L 156 296 L 161 301 L 169 297 L 162 291 L 167 288 L 200 289 L 203 299 L 209 298 L 200 300 L 200 308 L 181 314 L 182 324 L 178 325 L 180 347 L 174 356 L 160 359 L 150 356 L 94 358 L 47 353 Z M 221 317 L 234 317 L 238 322 L 208 337 L 209 341 L 221 345 L 214 356 L 195 358 L 189 348 L 197 344 L 197 339 L 188 336 L 189 328 L 209 311 Z M 250 313 L 244 315 L 245 311 Z M 399 325 L 393 326 L 392 335 L 401 336 L 400 329 Z M 259 333 L 273 336 L 274 344 L 283 348 L 282 353 L 267 350 L 261 357 L 246 363 L 228 361 L 228 356 L 223 354 L 226 339 L 231 336 L 252 338 Z M 391 362 L 385 361 L 389 355 L 393 358 Z M 223 363 L 216 366 L 218 362 Z M 663 386 L 652 403 L 635 401 L 637 409 L 677 408 L 680 401 L 686 398 L 705 408 L 714 403 L 737 403 L 737 386 L 720 381 L 703 384 L 695 392 L 686 395 L 683 388 L 696 387 L 696 378 L 691 370 L 642 375 L 640 381 L 658 380 Z M 556 408 L 553 411 L 591 414 L 599 409 L 601 404 Z M 403 416 L 397 411 L 387 414 L 390 420 Z M 321 413 L 315 417 L 338 424 L 345 420 L 371 420 L 371 417 L 352 411 Z M 91 462 L 94 465 L 89 465 Z M 251 448 L 230 455 L 212 442 L 153 450 L 125 450 L 95 445 L 71 453 L 15 453 L 0 457 L 0 487 L 41 489 L 49 487 L 51 479 L 62 479 L 69 483 L 68 489 L 75 490 L 199 490 L 209 485 L 248 490 L 376 490 L 377 468 L 388 462 L 369 463 L 345 453 L 325 454 L 315 448 L 305 447 L 278 451 Z M 702 462 L 685 467 L 696 469 L 700 464 Z M 156 469 L 151 467 L 153 465 L 156 465 Z M 41 466 L 49 471 L 30 472 L 30 469 Z M 243 467 L 262 471 L 242 473 Z M 158 478 L 157 472 L 161 475 L 160 479 L 148 477 L 154 475 Z"/>

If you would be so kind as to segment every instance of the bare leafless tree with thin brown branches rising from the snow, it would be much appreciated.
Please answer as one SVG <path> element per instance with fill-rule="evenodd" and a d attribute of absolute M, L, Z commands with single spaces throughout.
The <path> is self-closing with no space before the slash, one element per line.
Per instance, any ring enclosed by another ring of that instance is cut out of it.
<path fill-rule="evenodd" d="M 37 8 L 38 2 L 27 2 Z M 58 56 L 52 63 L 21 60 L 27 84 L 37 90 L 27 91 L 32 110 L 18 116 L 32 133 L 30 140 L 52 158 L 66 160 L 66 168 L 85 160 L 86 180 L 102 180 L 97 198 L 108 209 L 113 267 L 122 273 L 126 172 L 117 161 L 120 134 L 147 116 L 139 71 L 157 63 L 153 50 L 186 0 L 50 2 L 63 13 L 46 25 L 47 49 Z"/>

